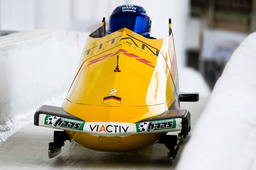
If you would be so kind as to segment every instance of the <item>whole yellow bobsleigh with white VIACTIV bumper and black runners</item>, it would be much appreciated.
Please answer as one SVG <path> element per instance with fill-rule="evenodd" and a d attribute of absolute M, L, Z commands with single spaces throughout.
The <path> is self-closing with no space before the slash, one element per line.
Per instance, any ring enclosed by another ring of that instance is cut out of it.
<path fill-rule="evenodd" d="M 123 152 L 163 143 L 172 159 L 190 131 L 190 113 L 182 101 L 171 23 L 169 37 L 147 39 L 127 28 L 105 35 L 105 20 L 83 49 L 78 72 L 62 107 L 43 105 L 34 125 L 55 131 L 49 158 L 72 140 L 92 150 Z"/>

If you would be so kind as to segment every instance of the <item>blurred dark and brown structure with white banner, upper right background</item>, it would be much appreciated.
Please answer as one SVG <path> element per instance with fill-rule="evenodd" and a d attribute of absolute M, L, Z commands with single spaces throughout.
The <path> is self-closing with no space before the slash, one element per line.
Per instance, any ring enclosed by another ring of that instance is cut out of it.
<path fill-rule="evenodd" d="M 213 88 L 234 50 L 256 31 L 256 0 L 191 0 L 190 9 L 190 26 L 200 25 L 200 46 L 186 49 L 186 64 Z"/>

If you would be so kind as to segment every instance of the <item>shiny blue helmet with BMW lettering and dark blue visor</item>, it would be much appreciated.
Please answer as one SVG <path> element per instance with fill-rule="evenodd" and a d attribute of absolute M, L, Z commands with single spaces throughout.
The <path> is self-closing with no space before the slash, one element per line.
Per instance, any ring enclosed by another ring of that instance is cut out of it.
<path fill-rule="evenodd" d="M 144 8 L 137 5 L 116 7 L 109 17 L 108 33 L 128 28 L 146 38 L 150 37 L 151 20 Z"/>

